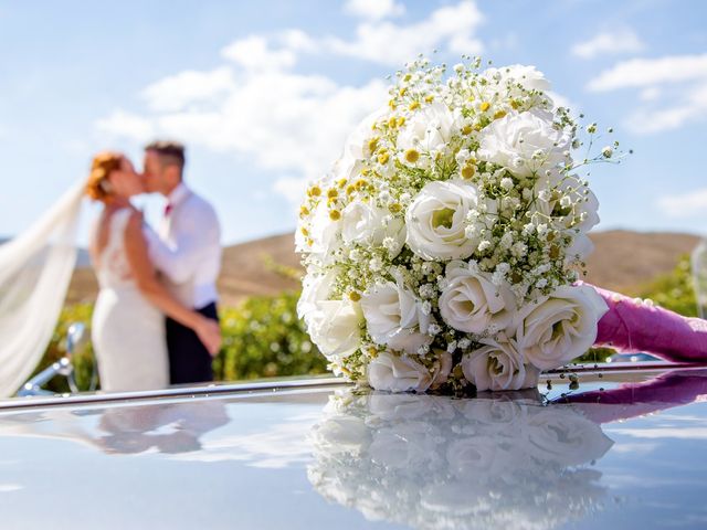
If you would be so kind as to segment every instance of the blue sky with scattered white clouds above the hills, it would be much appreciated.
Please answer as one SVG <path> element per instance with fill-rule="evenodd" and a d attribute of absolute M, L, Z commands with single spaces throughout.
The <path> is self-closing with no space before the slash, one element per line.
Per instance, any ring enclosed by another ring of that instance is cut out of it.
<path fill-rule="evenodd" d="M 154 137 L 187 142 L 224 243 L 294 230 L 302 183 L 386 102 L 384 76 L 433 49 L 535 64 L 615 128 L 635 153 L 592 171 L 600 229 L 707 232 L 706 22 L 699 0 L 0 0 L 0 235 L 96 150 L 139 161 Z"/>

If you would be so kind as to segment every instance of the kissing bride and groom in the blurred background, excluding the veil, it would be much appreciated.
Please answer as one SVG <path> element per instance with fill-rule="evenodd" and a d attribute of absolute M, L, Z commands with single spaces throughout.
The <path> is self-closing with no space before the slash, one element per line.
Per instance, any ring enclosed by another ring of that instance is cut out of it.
<path fill-rule="evenodd" d="M 184 148 L 155 141 L 143 172 L 119 152 L 93 159 L 85 193 L 103 204 L 91 235 L 98 278 L 92 341 L 104 391 L 211 381 L 221 346 L 215 280 L 221 230 L 215 211 L 183 181 Z M 157 230 L 130 199 L 167 199 Z"/>

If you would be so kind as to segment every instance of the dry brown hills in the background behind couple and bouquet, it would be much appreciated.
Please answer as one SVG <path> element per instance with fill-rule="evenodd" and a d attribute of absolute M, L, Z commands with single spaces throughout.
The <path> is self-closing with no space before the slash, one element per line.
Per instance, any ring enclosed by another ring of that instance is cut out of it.
<path fill-rule="evenodd" d="M 595 250 L 587 267 L 587 280 L 633 294 L 659 274 L 669 273 L 683 254 L 698 242 L 690 234 L 614 230 L 590 234 Z M 253 295 L 274 295 L 297 288 L 297 282 L 275 268 L 299 271 L 293 234 L 275 235 L 229 246 L 223 252 L 219 290 L 223 305 L 234 305 Z M 67 301 L 95 298 L 97 284 L 89 268 L 77 268 Z"/>

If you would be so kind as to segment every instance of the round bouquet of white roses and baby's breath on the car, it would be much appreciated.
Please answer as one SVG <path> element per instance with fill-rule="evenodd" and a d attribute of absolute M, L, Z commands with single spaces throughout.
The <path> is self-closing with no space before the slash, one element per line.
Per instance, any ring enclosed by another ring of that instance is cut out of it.
<path fill-rule="evenodd" d="M 594 342 L 606 305 L 573 283 L 598 201 L 577 169 L 618 142 L 573 160 L 578 125 L 542 74 L 479 66 L 407 65 L 307 189 L 298 310 L 336 373 L 398 392 L 516 390 Z"/>

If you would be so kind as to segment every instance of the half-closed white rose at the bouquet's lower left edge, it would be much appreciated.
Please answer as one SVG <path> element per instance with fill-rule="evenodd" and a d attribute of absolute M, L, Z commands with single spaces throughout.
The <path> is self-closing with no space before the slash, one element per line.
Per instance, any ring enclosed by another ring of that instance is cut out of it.
<path fill-rule="evenodd" d="M 361 346 L 360 305 L 349 300 L 319 301 L 308 314 L 307 332 L 330 361 L 350 356 Z"/>

